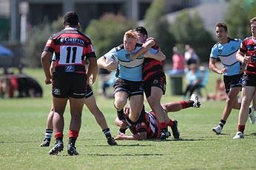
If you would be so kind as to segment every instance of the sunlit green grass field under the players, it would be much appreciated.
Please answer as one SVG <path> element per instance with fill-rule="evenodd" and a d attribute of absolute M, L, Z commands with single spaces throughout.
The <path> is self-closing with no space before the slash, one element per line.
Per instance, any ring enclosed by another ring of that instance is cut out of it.
<path fill-rule="evenodd" d="M 118 141 L 108 146 L 95 119 L 84 107 L 80 136 L 76 143 L 80 155 L 67 156 L 69 107 L 65 113 L 64 152 L 48 155 L 41 148 L 47 113 L 51 105 L 50 86 L 44 85 L 40 69 L 25 70 L 44 87 L 41 99 L 0 99 L 0 169 L 255 169 L 256 124 L 246 124 L 243 140 L 233 140 L 238 110 L 233 110 L 223 130 L 215 135 L 224 102 L 201 102 L 201 108 L 188 108 L 169 116 L 178 120 L 181 140 Z M 208 91 L 218 75 L 210 74 Z M 168 79 L 167 79 L 168 80 Z M 168 83 L 169 84 L 169 83 Z M 95 87 L 96 88 L 96 87 Z M 167 85 L 163 102 L 181 100 L 171 96 Z M 95 94 L 97 91 L 95 90 Z M 118 132 L 112 99 L 97 97 L 112 135 Z M 53 146 L 53 142 L 51 144 Z"/>

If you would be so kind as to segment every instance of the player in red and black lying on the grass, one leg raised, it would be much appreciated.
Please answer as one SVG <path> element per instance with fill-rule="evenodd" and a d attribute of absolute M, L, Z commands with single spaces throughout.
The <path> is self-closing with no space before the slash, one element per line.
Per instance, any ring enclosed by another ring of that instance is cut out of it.
<path fill-rule="evenodd" d="M 195 96 L 195 94 L 193 94 Z M 164 114 L 166 117 L 166 122 L 168 122 L 168 126 L 172 129 L 172 135 L 175 139 L 180 138 L 180 133 L 178 131 L 178 122 L 173 121 L 171 118 L 167 116 L 169 112 L 177 112 L 178 110 L 182 110 L 188 107 L 200 107 L 200 102 L 198 101 L 198 96 L 195 96 L 194 99 L 190 99 L 189 101 L 181 101 L 181 102 L 168 102 L 161 105 L 164 109 Z M 129 106 L 124 109 L 124 118 L 129 116 Z M 121 128 L 127 127 L 129 122 L 120 120 L 118 117 L 115 118 L 115 125 Z M 155 116 L 153 111 L 146 112 L 143 108 L 141 111 L 141 116 L 135 124 L 132 124 L 129 127 L 132 135 L 126 135 L 122 132 L 119 132 L 115 137 L 116 140 L 143 140 L 143 139 L 159 139 L 161 138 L 161 130 L 159 128 L 159 121 Z M 168 132 L 169 133 L 169 132 Z"/>

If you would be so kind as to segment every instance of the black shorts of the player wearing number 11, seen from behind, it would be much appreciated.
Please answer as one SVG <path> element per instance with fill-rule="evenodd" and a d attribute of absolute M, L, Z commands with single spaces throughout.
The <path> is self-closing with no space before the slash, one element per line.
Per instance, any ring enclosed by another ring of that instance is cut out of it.
<path fill-rule="evenodd" d="M 86 74 L 53 72 L 52 94 L 57 98 L 82 99 L 86 94 Z"/>

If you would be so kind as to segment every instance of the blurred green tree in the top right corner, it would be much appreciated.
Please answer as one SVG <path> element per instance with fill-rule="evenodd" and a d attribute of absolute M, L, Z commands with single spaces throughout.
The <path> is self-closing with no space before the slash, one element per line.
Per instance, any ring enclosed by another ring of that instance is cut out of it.
<path fill-rule="evenodd" d="M 230 1 L 226 13 L 226 24 L 229 26 L 229 35 L 235 38 L 246 38 L 251 34 L 249 20 L 255 17 L 256 1 Z"/>

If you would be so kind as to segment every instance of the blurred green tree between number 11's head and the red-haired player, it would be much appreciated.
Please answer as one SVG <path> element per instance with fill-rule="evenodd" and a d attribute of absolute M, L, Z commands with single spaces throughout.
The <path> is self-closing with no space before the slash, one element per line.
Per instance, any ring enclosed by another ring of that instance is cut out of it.
<path fill-rule="evenodd" d="M 85 33 L 91 38 L 95 53 L 101 57 L 112 47 L 123 43 L 124 32 L 134 28 L 134 21 L 127 20 L 123 15 L 109 13 L 99 20 L 92 20 Z"/>

